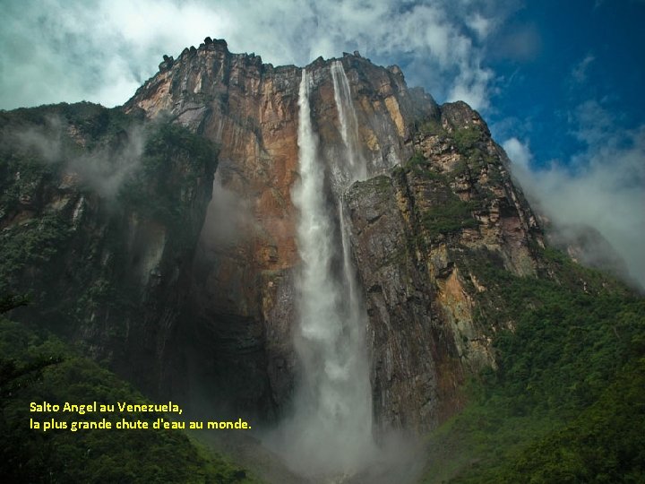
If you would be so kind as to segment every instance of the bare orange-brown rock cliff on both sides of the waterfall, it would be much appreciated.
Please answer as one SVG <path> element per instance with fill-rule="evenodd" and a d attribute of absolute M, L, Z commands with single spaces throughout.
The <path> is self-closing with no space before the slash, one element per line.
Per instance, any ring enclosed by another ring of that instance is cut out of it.
<path fill-rule="evenodd" d="M 428 428 L 459 408 L 469 372 L 495 364 L 495 328 L 477 321 L 472 294 L 486 289 L 460 258 L 486 247 L 509 271 L 534 273 L 529 246 L 541 244 L 539 230 L 477 113 L 463 103 L 438 107 L 409 90 L 396 66 L 357 54 L 340 62 L 370 178 L 345 200 L 370 316 L 374 416 L 383 427 Z M 231 54 L 211 39 L 159 67 L 125 110 L 170 117 L 221 150 L 193 279 L 199 359 L 208 362 L 202 377 L 236 409 L 262 402 L 268 415 L 288 403 L 296 365 L 291 189 L 300 70 Z M 306 69 L 333 210 L 332 194 L 342 194 L 347 177 L 331 61 Z"/>

